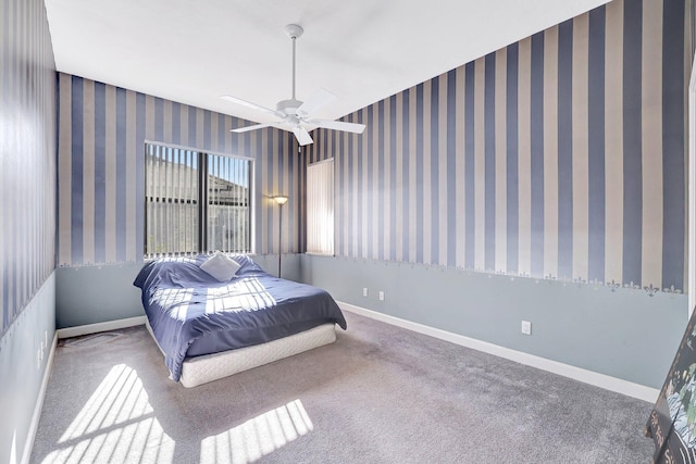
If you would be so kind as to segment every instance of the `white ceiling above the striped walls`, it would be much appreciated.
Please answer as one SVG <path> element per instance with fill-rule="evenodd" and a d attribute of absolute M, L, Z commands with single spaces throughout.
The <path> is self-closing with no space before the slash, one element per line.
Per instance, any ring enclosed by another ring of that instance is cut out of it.
<path fill-rule="evenodd" d="M 58 71 L 256 122 L 275 109 L 338 96 L 338 118 L 608 0 L 46 0 Z"/>

